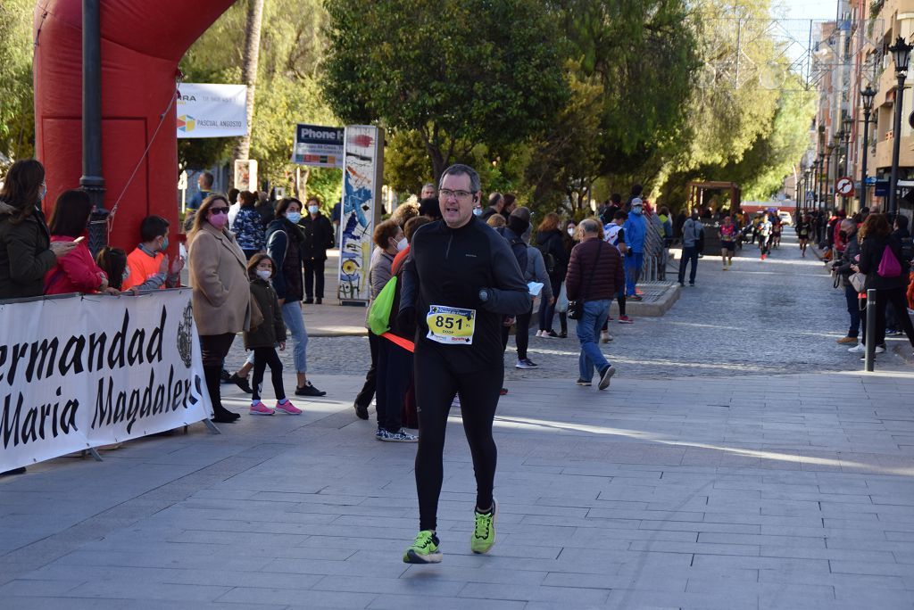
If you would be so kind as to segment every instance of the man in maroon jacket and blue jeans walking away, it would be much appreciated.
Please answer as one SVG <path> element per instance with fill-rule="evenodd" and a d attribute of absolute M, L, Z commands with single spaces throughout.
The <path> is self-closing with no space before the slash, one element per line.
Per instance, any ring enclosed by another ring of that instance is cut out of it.
<path fill-rule="evenodd" d="M 600 239 L 600 224 L 587 218 L 581 221 L 579 229 L 581 242 L 571 250 L 565 278 L 569 300 L 584 302 L 584 314 L 578 321 L 578 384 L 590 385 L 596 367 L 600 373 L 600 390 L 605 390 L 616 369 L 600 352 L 597 338 L 610 314 L 610 302 L 625 281 L 625 275 L 619 250 Z"/>

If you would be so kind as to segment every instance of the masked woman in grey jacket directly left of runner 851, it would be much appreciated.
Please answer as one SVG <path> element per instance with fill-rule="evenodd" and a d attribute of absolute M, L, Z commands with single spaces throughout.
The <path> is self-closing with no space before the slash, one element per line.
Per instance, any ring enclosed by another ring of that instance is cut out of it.
<path fill-rule="evenodd" d="M 387 285 L 391 278 L 391 265 L 394 257 L 400 250 L 407 247 L 406 237 L 403 235 L 403 229 L 392 220 L 385 220 L 375 227 L 375 233 L 372 236 L 375 242 L 375 251 L 371 254 L 371 268 L 368 270 L 368 281 L 371 283 L 371 302 L 377 299 L 378 293 Z M 371 309 L 371 302 L 368 303 L 368 310 Z M 414 443 L 419 437 L 411 435 L 402 427 L 403 401 L 402 394 L 406 388 L 388 387 L 388 364 L 394 366 L 403 366 L 401 359 L 391 358 L 392 349 L 396 346 L 381 337 L 378 337 L 370 330 L 368 331 L 368 341 L 371 344 L 372 363 L 377 372 L 375 375 L 375 397 L 377 399 L 377 440 L 393 443 Z M 400 378 L 402 375 L 393 375 Z M 389 391 L 388 391 L 389 390 Z M 396 391 L 395 391 L 396 390 Z M 397 399 L 391 399 L 392 396 L 399 395 Z M 356 401 L 356 411 L 358 411 Z M 365 412 L 367 415 L 367 411 Z M 359 414 L 361 417 L 361 414 Z"/>

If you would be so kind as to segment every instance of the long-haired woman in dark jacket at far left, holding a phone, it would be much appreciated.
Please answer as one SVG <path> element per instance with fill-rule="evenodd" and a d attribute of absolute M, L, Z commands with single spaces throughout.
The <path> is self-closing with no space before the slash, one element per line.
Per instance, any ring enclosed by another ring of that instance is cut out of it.
<path fill-rule="evenodd" d="M 51 243 L 40 207 L 47 192 L 41 163 L 23 159 L 9 168 L 0 189 L 0 299 L 40 297 L 45 274 L 76 247 Z"/>

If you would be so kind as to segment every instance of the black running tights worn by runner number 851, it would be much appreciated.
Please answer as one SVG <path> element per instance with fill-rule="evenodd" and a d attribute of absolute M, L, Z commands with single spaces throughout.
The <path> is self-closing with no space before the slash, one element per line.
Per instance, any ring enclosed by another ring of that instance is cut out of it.
<path fill-rule="evenodd" d="M 437 352 L 421 350 L 416 352 L 415 373 L 419 411 L 419 450 L 416 453 L 419 527 L 420 530 L 434 530 L 444 478 L 444 432 L 454 394 L 460 395 L 463 432 L 473 456 L 476 507 L 485 509 L 492 506 L 497 460 L 492 422 L 505 370 L 496 366 L 473 373 L 454 373 L 450 364 Z"/>

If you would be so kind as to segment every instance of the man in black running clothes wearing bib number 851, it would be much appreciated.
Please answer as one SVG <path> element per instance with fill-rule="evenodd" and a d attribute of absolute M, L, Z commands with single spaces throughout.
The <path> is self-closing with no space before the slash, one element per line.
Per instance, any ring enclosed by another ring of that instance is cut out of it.
<path fill-rule="evenodd" d="M 476 475 L 470 548 L 488 552 L 495 542 L 492 424 L 505 376 L 502 322 L 529 311 L 530 295 L 508 242 L 473 216 L 480 196 L 473 168 L 457 164 L 444 170 L 438 191 L 443 219 L 416 231 L 403 269 L 399 319 L 418 322 L 414 383 L 419 411 L 420 532 L 403 553 L 406 563 L 441 562 L 435 529 L 444 432 L 454 394 L 460 396 Z"/>

